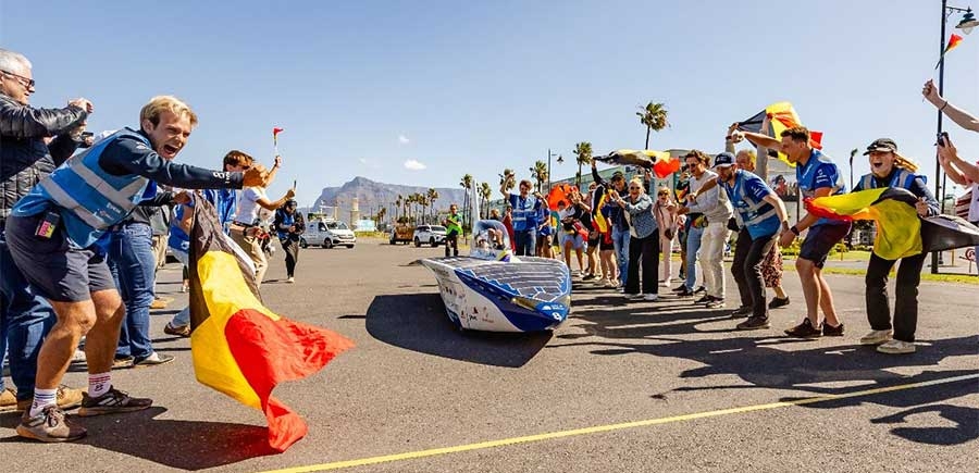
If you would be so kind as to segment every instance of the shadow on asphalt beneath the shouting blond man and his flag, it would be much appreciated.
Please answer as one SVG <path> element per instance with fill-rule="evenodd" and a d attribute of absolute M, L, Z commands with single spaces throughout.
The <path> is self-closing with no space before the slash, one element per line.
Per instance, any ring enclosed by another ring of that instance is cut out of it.
<path fill-rule="evenodd" d="M 275 455 L 269 447 L 265 427 L 226 422 L 158 420 L 165 408 L 119 415 L 75 419 L 88 430 L 79 444 L 128 455 L 179 470 L 205 470 L 237 463 L 255 457 Z M 14 428 L 18 414 L 0 415 L 0 426 Z M 17 436 L 0 443 L 34 441 Z"/>

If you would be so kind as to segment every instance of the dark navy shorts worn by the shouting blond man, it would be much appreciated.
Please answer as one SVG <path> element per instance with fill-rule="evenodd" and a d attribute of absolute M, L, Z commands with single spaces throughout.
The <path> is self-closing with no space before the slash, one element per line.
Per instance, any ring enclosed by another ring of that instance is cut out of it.
<path fill-rule="evenodd" d="M 44 214 L 7 220 L 7 242 L 14 263 L 37 294 L 58 302 L 91 299 L 91 292 L 115 289 L 106 254 L 96 246 L 69 245 L 59 225 L 50 238 L 35 235 Z"/>

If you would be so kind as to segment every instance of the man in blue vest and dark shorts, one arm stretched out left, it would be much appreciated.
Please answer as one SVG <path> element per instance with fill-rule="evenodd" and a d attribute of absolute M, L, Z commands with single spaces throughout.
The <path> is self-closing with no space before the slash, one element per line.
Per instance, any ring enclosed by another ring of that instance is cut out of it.
<path fill-rule="evenodd" d="M 756 146 L 778 149 L 795 164 L 795 178 L 798 183 L 800 198 L 816 198 L 844 194 L 843 175 L 837 164 L 816 148 L 810 146 L 809 130 L 804 126 L 795 126 L 782 132 L 779 141 L 770 136 L 735 132 Z M 782 232 L 779 245 L 788 247 L 808 229 L 800 248 L 795 269 L 802 283 L 803 296 L 806 299 L 806 319 L 798 325 L 785 331 L 796 338 L 817 338 L 820 336 L 843 336 L 843 322 L 837 316 L 833 307 L 833 295 L 829 283 L 822 277 L 822 265 L 833 247 L 850 233 L 850 222 L 820 219 L 806 214 Z M 819 310 L 822 309 L 825 323 L 819 323 Z"/>

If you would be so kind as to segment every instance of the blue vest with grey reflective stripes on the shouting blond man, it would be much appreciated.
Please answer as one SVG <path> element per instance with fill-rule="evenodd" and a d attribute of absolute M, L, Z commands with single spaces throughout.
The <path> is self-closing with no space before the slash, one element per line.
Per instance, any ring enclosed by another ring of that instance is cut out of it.
<path fill-rule="evenodd" d="M 156 186 L 152 186 L 149 195 L 145 195 L 150 184 L 146 177 L 136 174 L 114 176 L 99 166 L 99 157 L 106 147 L 123 136 L 150 147 L 142 135 L 128 128 L 121 129 L 54 170 L 14 206 L 12 213 L 30 216 L 57 209 L 69 242 L 78 248 L 91 246 L 110 226 L 125 219 L 137 203 L 156 194 Z"/>

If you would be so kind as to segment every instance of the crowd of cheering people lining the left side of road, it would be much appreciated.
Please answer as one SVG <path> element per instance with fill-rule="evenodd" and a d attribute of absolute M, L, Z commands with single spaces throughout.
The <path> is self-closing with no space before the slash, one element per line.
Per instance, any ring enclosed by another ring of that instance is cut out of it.
<path fill-rule="evenodd" d="M 220 171 L 173 162 L 197 126 L 179 99 L 153 97 L 137 127 L 95 136 L 86 132 L 95 112 L 87 99 L 30 104 L 32 69 L 23 54 L 0 49 L 0 360 L 9 360 L 13 385 L 0 378 L 0 412 L 23 412 L 22 437 L 71 441 L 86 431 L 65 410 L 91 416 L 152 404 L 117 389 L 111 371 L 173 360 L 152 348 L 149 311 L 166 247 L 188 263 L 195 202 L 215 208 L 251 258 L 257 284 L 267 266 L 258 209 L 276 213 L 287 282 L 305 223 L 293 189 L 276 201 L 264 194 L 278 157 L 271 170 L 236 150 Z M 189 336 L 189 312 L 164 332 Z M 78 360 L 87 389 L 61 383 Z"/>

